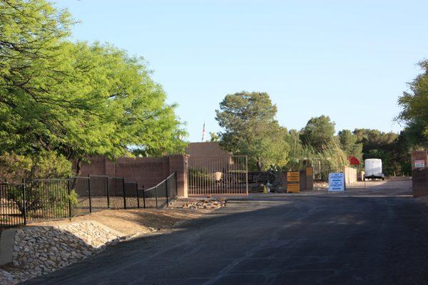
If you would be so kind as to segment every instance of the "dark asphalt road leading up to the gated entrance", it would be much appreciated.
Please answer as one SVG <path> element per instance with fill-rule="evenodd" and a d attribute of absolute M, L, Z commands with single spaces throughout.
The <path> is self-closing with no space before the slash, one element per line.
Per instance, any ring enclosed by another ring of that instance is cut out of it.
<path fill-rule="evenodd" d="M 27 284 L 428 284 L 427 264 L 428 207 L 412 197 L 277 197 Z"/>

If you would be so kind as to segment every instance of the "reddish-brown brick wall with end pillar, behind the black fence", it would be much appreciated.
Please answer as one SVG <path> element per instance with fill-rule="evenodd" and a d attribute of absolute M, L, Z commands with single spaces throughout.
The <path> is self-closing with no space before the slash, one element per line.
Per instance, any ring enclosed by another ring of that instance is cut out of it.
<path fill-rule="evenodd" d="M 137 182 L 139 188 L 148 189 L 177 171 L 178 196 L 187 197 L 187 168 L 188 155 L 121 157 L 116 161 L 91 157 L 90 163 L 82 165 L 81 176 L 125 177 L 127 182 Z"/>

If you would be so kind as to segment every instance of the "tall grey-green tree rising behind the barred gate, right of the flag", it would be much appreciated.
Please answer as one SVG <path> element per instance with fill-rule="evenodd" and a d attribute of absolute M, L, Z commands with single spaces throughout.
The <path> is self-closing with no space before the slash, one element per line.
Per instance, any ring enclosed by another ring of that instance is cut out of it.
<path fill-rule="evenodd" d="M 237 155 L 248 155 L 258 170 L 282 167 L 287 162 L 287 130 L 275 120 L 277 108 L 267 93 L 228 94 L 216 110 L 220 146 Z"/>

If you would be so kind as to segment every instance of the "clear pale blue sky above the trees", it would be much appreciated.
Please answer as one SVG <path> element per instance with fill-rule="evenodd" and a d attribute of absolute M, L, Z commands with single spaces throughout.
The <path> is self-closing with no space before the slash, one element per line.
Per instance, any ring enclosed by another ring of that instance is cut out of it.
<path fill-rule="evenodd" d="M 190 142 L 218 132 L 226 94 L 267 92 L 277 120 L 300 130 L 328 115 L 336 130 L 399 132 L 397 98 L 428 57 L 428 1 L 59 0 L 73 40 L 143 56 L 177 103 Z"/>

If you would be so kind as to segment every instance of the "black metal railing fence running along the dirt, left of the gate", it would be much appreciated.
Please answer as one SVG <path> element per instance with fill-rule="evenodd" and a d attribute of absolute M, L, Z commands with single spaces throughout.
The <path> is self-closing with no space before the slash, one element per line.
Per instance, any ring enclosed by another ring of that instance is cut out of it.
<path fill-rule="evenodd" d="M 177 197 L 177 173 L 144 190 L 123 177 L 90 175 L 0 184 L 0 227 L 63 219 L 103 209 L 168 207 Z"/>

